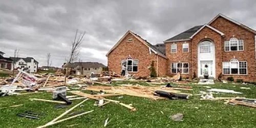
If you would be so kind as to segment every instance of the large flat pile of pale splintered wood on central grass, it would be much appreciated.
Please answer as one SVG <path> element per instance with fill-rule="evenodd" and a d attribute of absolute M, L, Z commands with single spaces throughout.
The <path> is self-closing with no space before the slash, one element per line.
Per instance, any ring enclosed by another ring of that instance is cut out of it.
<path fill-rule="evenodd" d="M 142 87 L 142 86 L 125 86 L 125 87 L 90 86 L 90 87 L 87 87 L 85 90 L 97 91 L 97 92 L 103 91 L 106 93 L 111 93 L 112 95 L 121 94 L 121 95 L 137 96 L 137 97 L 144 97 L 144 98 L 157 100 L 157 99 L 166 99 L 166 98 L 155 95 L 156 90 L 161 90 L 161 91 L 174 93 L 174 94 L 184 94 L 184 93 L 180 93 L 180 91 L 175 89 L 179 89 L 179 88 Z M 108 95 L 108 94 L 105 94 L 105 95 Z M 191 95 L 191 94 L 188 94 L 188 95 Z"/>

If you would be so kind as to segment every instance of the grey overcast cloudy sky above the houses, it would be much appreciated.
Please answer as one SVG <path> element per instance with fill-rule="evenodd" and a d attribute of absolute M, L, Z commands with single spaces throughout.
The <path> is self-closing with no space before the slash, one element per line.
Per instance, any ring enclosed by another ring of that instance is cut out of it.
<path fill-rule="evenodd" d="M 34 57 L 60 67 L 69 55 L 76 29 L 86 31 L 80 59 L 106 65 L 105 54 L 127 31 L 152 44 L 222 13 L 256 30 L 256 1 L 0 1 L 0 51 L 5 57 Z"/>

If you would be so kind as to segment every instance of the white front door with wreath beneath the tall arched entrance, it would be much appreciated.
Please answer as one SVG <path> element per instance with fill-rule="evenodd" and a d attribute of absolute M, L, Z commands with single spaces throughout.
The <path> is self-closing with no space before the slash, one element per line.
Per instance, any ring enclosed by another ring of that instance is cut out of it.
<path fill-rule="evenodd" d="M 212 61 L 200 61 L 200 76 L 203 77 L 206 71 L 209 77 L 214 77 Z"/>

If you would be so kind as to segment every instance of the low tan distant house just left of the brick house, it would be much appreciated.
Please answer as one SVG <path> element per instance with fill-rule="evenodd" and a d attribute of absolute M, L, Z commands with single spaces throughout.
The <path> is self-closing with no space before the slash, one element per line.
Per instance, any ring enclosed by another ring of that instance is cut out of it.
<path fill-rule="evenodd" d="M 100 74 L 106 66 L 99 62 L 74 62 L 69 65 L 65 64 L 65 68 L 72 68 L 76 75 Z"/>

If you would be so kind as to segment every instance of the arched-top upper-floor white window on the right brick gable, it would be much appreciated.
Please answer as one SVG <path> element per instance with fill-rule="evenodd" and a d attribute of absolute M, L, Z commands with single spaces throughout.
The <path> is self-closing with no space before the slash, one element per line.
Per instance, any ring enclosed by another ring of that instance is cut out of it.
<path fill-rule="evenodd" d="M 230 38 L 229 41 L 225 41 L 225 51 L 244 51 L 244 40 Z"/>

